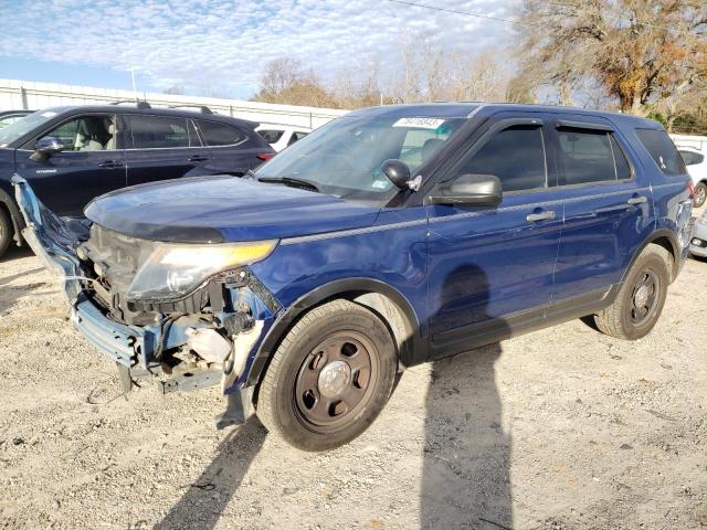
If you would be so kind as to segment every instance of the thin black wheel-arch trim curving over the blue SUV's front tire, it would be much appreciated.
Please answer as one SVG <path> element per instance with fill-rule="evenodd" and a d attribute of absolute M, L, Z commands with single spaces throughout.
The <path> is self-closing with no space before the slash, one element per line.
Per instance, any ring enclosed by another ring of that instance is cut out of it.
<path fill-rule="evenodd" d="M 267 330 L 267 335 L 261 341 L 255 353 L 255 359 L 247 374 L 245 386 L 257 384 L 272 354 L 277 349 L 277 344 L 287 330 L 302 315 L 323 301 L 335 298 L 337 295 L 350 295 L 351 293 L 377 293 L 389 298 L 402 311 L 403 319 L 407 320 L 407 333 L 411 340 L 407 340 L 403 346 L 404 351 L 400 353 L 400 362 L 403 367 L 414 363 L 413 352 L 423 351 L 423 339 L 420 336 L 420 321 L 408 299 L 394 287 L 371 278 L 346 278 L 320 285 L 306 295 L 298 298 Z M 355 297 L 350 297 L 355 298 Z M 389 325 L 389 322 L 386 322 Z M 415 357 L 420 357 L 416 354 Z"/>

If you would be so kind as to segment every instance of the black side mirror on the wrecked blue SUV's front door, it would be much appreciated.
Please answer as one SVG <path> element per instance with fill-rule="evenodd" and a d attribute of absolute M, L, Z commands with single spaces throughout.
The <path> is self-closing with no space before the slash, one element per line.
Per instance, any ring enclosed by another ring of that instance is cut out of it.
<path fill-rule="evenodd" d="M 430 204 L 467 204 L 495 206 L 500 203 L 500 180 L 493 174 L 461 174 L 454 180 L 440 182 L 430 192 Z"/>

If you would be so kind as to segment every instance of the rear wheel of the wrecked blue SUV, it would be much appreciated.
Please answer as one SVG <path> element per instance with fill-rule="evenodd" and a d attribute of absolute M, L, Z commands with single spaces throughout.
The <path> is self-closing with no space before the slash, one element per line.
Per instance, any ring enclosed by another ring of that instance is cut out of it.
<path fill-rule="evenodd" d="M 648 335 L 665 305 L 672 261 L 665 248 L 646 246 L 629 271 L 616 299 L 594 316 L 599 330 L 625 340 Z"/>

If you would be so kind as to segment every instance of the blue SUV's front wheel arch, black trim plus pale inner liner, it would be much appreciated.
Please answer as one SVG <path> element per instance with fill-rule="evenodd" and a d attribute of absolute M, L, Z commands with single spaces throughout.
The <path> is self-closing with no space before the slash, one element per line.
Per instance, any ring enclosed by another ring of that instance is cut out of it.
<path fill-rule="evenodd" d="M 398 344 L 399 363 L 413 363 L 413 352 L 420 347 L 420 324 L 410 301 L 394 287 L 372 278 L 346 278 L 335 280 L 298 298 L 271 326 L 255 353 L 247 374 L 246 386 L 256 385 L 265 371 L 277 346 L 295 325 L 310 309 L 344 298 L 365 306 L 377 314 L 389 328 Z"/>

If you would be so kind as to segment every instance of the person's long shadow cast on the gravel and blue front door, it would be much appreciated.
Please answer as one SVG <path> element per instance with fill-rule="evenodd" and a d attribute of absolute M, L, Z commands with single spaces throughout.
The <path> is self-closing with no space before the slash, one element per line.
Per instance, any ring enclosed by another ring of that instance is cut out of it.
<path fill-rule="evenodd" d="M 469 298 L 460 293 L 471 293 Z M 465 309 L 475 321 L 488 318 L 488 280 L 476 265 L 449 274 L 440 296 L 433 319 Z M 511 436 L 503 428 L 495 370 L 502 352 L 495 343 L 432 363 L 420 489 L 423 529 L 513 528 Z"/>

